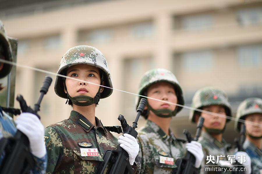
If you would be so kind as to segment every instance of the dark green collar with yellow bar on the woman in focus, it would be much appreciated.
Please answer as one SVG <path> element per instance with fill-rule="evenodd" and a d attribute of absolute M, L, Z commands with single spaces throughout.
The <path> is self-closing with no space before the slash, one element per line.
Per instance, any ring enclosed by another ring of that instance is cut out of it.
<path fill-rule="evenodd" d="M 72 110 L 69 116 L 69 119 L 77 123 L 80 127 L 82 127 L 86 132 L 89 132 L 92 128 L 95 127 L 86 117 L 84 117 L 82 114 L 80 114 L 77 111 Z M 95 117 L 95 122 L 97 124 L 96 129 L 102 130 L 107 135 L 107 131 L 105 127 L 103 126 L 101 120 L 99 120 L 97 117 Z"/>

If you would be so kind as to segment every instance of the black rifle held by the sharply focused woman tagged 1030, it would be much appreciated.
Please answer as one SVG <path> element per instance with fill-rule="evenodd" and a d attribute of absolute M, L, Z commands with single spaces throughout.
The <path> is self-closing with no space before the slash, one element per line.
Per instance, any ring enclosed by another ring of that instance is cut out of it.
<path fill-rule="evenodd" d="M 140 100 L 137 107 L 137 116 L 132 126 L 128 125 L 123 115 L 118 116 L 118 120 L 120 121 L 123 128 L 123 134 L 127 133 L 137 138 L 137 131 L 135 130 L 135 128 L 137 128 L 137 121 L 140 114 L 144 111 L 146 102 L 147 101 L 145 98 L 142 98 Z M 103 157 L 104 161 L 98 166 L 98 170 L 96 171 L 96 173 L 102 174 L 104 173 L 105 169 L 108 168 L 107 173 L 109 174 L 133 174 L 134 169 L 130 165 L 128 158 L 128 153 L 119 145 L 116 150 L 107 150 Z"/>

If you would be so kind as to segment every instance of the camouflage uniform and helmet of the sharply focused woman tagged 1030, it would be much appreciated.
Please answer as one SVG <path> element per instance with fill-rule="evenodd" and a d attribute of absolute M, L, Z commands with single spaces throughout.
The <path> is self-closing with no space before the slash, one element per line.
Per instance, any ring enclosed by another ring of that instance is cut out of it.
<path fill-rule="evenodd" d="M 101 76 L 104 77 L 104 85 L 111 88 L 104 88 L 101 94 L 98 92 L 95 96 L 98 100 L 91 100 L 92 103 L 98 103 L 100 98 L 106 98 L 112 94 L 113 86 L 107 61 L 98 49 L 86 45 L 69 49 L 61 60 L 57 74 L 65 75 L 68 67 L 78 64 L 99 68 Z M 64 80 L 56 76 L 54 90 L 58 96 L 68 98 L 68 94 L 64 91 Z M 97 171 L 105 152 L 116 150 L 118 139 L 105 129 L 97 117 L 95 117 L 95 122 L 96 128 L 86 117 L 72 110 L 69 119 L 49 125 L 45 129 L 47 173 L 95 173 Z M 134 164 L 132 167 L 137 172 L 137 166 Z"/>

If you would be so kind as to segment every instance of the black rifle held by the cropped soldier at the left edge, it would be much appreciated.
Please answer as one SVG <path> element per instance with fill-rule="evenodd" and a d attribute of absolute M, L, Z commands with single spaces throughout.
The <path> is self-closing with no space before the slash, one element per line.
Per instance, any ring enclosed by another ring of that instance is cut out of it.
<path fill-rule="evenodd" d="M 22 95 L 17 95 L 16 100 L 19 101 L 22 112 L 30 112 L 40 119 L 37 112 L 40 110 L 40 103 L 43 96 L 47 93 L 51 82 L 52 78 L 46 76 L 43 86 L 40 88 L 40 96 L 38 102 L 34 105 L 34 109 L 27 106 Z M 20 130 L 17 130 L 14 137 L 2 138 L 0 140 L 0 155 L 3 154 L 4 158 L 0 167 L 1 174 L 28 173 L 35 165 L 33 155 L 30 152 L 29 139 Z"/>

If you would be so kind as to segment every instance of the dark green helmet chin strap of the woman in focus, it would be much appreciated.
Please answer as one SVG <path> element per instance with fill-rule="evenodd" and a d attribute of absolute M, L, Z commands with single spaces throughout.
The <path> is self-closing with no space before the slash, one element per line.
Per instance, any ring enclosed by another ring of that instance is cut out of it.
<path fill-rule="evenodd" d="M 102 77 L 101 77 L 101 81 L 100 81 L 100 85 L 102 85 L 102 82 L 104 80 L 104 76 L 102 73 Z M 65 79 L 64 79 L 64 84 L 65 84 Z M 100 94 L 101 94 L 101 86 L 99 86 L 98 92 L 95 95 L 94 98 L 89 97 L 89 96 L 75 96 L 75 97 L 71 97 L 66 89 L 65 86 L 65 91 L 67 92 L 67 101 L 65 102 L 65 104 L 68 102 L 68 99 L 70 99 L 72 101 L 72 103 L 74 103 L 77 106 L 89 106 L 92 104 L 98 104 L 99 100 L 100 100 Z M 84 102 L 79 102 L 79 101 L 84 101 Z"/>

